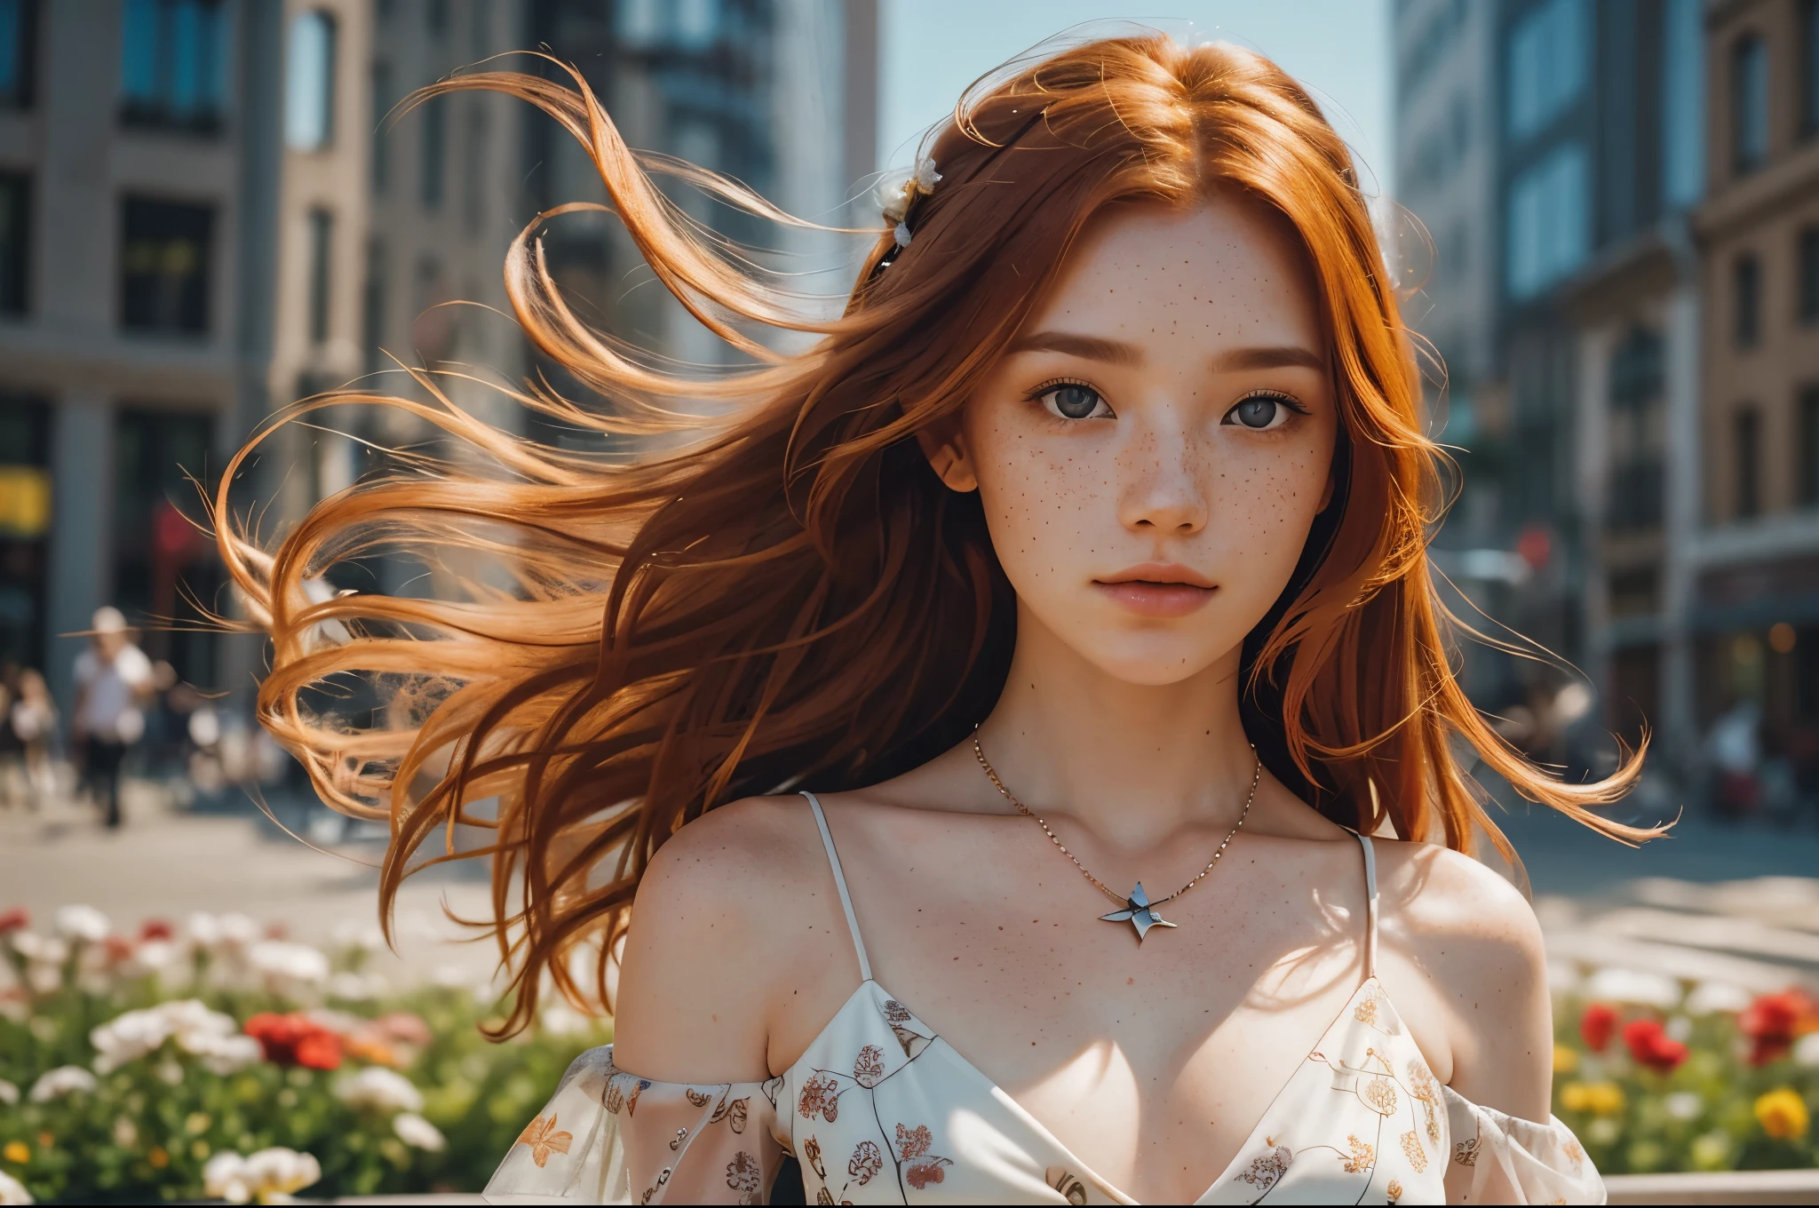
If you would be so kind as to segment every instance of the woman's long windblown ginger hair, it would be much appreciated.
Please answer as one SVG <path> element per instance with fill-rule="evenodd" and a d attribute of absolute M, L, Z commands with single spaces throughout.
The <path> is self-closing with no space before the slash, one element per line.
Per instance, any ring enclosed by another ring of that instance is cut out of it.
<path fill-rule="evenodd" d="M 526 335 L 593 398 L 546 386 L 515 397 L 629 453 L 508 435 L 417 371 L 427 402 L 338 393 L 300 409 L 402 408 L 467 446 L 460 457 L 326 498 L 271 549 L 226 522 L 235 468 L 215 502 L 222 557 L 271 635 L 258 717 L 324 800 L 389 820 L 382 908 L 424 862 L 491 857 L 491 926 L 517 990 L 504 1032 L 533 1019 L 546 970 L 571 997 L 604 990 L 638 877 L 677 828 L 784 786 L 877 782 L 991 710 L 1015 640 L 1011 589 L 977 493 L 942 486 L 915 433 L 955 417 L 1086 224 L 1121 200 L 1242 193 L 1288 220 L 1313 269 L 1341 415 L 1337 489 L 1244 646 L 1244 724 L 1270 771 L 1359 831 L 1388 820 L 1402 839 L 1470 850 L 1482 828 L 1510 855 L 1459 742 L 1606 835 L 1659 833 L 1590 811 L 1632 786 L 1639 757 L 1606 780 L 1563 782 L 1461 690 L 1426 555 L 1442 453 L 1422 431 L 1413 340 L 1344 142 L 1271 62 L 1128 36 L 975 86 L 928 146 L 940 184 L 915 202 L 913 242 L 891 258 L 884 229 L 837 318 L 813 317 L 653 176 L 795 218 L 631 151 L 573 84 L 482 73 L 431 91 L 497 89 L 560 122 L 657 278 L 746 364 L 680 375 L 578 318 L 546 267 L 544 215 L 511 247 L 508 293 Z M 819 338 L 782 355 L 766 329 Z M 320 589 L 337 560 L 400 544 L 480 557 L 511 582 L 475 573 L 444 599 Z M 317 704 L 349 679 L 389 693 L 373 726 Z M 497 810 L 477 811 L 486 799 Z M 457 822 L 491 828 L 493 842 L 455 851 Z M 437 830 L 451 842 L 426 857 Z M 591 944 L 589 990 L 568 957 Z"/>

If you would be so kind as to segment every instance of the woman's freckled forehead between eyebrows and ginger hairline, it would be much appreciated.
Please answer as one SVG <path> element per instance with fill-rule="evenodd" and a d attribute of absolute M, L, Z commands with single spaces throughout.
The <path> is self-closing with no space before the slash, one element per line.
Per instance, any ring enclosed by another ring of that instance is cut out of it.
<path fill-rule="evenodd" d="M 1190 207 L 1121 202 L 1099 211 L 1028 329 L 1090 329 L 1142 346 L 1188 337 L 1197 351 L 1321 347 L 1306 253 L 1288 222 L 1215 195 Z"/>

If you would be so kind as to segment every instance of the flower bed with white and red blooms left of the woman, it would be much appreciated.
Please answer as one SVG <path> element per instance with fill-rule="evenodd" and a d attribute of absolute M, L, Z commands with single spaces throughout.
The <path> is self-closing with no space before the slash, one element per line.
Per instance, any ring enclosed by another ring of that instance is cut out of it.
<path fill-rule="evenodd" d="M 477 1192 L 602 1026 L 487 1042 L 471 986 L 387 992 L 333 953 L 198 915 L 124 937 L 0 915 L 0 1204 Z"/>

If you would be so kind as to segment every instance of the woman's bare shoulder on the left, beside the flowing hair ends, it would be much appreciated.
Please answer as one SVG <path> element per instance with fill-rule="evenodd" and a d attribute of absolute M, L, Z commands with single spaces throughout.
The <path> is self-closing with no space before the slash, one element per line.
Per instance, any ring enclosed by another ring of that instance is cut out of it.
<path fill-rule="evenodd" d="M 768 1077 L 771 1022 L 788 1006 L 779 993 L 799 999 L 844 968 L 829 897 L 800 797 L 753 797 L 686 824 L 638 882 L 615 1062 L 671 1082 Z"/>

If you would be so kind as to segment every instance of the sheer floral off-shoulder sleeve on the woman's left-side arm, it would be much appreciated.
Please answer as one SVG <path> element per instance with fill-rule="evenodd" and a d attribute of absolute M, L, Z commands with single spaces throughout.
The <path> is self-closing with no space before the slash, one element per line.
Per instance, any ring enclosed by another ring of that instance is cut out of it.
<path fill-rule="evenodd" d="M 762 1204 L 780 1148 L 769 1082 L 684 1086 L 613 1066 L 568 1068 L 482 1193 L 489 1204 Z"/>

